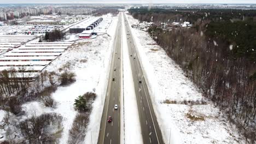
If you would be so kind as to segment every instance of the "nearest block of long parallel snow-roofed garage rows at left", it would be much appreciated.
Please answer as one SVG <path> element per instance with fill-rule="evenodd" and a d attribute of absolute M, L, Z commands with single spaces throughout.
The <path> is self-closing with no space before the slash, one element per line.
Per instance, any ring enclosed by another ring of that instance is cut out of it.
<path fill-rule="evenodd" d="M 24 76 L 19 77 L 20 73 L 27 74 L 26 79 L 33 80 L 72 44 L 73 42 L 27 43 L 0 56 L 0 71 L 16 69 L 16 79 L 24 80 Z"/>

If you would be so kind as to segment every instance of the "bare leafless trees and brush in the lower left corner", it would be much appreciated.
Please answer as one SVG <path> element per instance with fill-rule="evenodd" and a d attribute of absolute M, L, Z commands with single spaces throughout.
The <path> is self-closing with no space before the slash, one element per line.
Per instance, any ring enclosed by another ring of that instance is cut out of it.
<path fill-rule="evenodd" d="M 25 114 L 22 105 L 40 101 L 44 106 L 55 108 L 51 94 L 58 86 L 75 81 L 69 64 L 62 65 L 59 73 L 43 71 L 33 80 L 25 68 L 0 71 L 0 109 L 5 111 L 1 127 L 6 131 L 3 143 L 56 143 L 62 133 L 62 116 L 45 113 L 20 119 Z"/>

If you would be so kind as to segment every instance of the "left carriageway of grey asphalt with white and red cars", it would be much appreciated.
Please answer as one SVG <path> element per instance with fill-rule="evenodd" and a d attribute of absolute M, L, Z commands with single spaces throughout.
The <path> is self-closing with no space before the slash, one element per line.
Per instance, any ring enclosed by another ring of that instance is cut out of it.
<path fill-rule="evenodd" d="M 121 64 L 123 58 L 121 57 L 121 14 L 118 19 L 118 27 L 115 32 L 114 51 L 109 73 L 109 81 L 106 99 L 104 101 L 104 108 L 101 118 L 100 133 L 98 135 L 98 144 L 102 143 L 120 143 L 120 86 L 121 86 Z M 114 68 L 116 70 L 114 70 Z M 114 78 L 114 81 L 113 81 Z M 118 109 L 114 109 L 114 105 L 118 105 Z M 108 117 L 112 117 L 112 122 L 107 122 Z"/>

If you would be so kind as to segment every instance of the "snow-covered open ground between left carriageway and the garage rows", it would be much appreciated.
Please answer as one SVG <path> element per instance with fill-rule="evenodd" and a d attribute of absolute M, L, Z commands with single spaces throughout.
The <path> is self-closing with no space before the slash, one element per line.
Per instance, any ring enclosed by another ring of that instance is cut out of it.
<path fill-rule="evenodd" d="M 56 101 L 56 108 L 48 108 L 40 101 L 32 101 L 22 105 L 22 110 L 26 113 L 22 119 L 37 116 L 42 113 L 56 112 L 63 117 L 63 132 L 59 143 L 67 143 L 69 129 L 71 129 L 73 120 L 77 111 L 74 110 L 74 99 L 86 92 L 92 92 L 95 89 L 97 98 L 93 103 L 93 109 L 90 116 L 90 122 L 86 130 L 84 143 L 97 143 L 98 131 L 100 130 L 100 121 L 103 110 L 104 98 L 106 95 L 108 71 L 110 56 L 115 28 L 117 28 L 118 16 L 113 17 L 113 22 L 108 27 L 112 29 L 109 35 L 100 35 L 96 39 L 84 39 L 75 42 L 75 44 L 61 56 L 57 57 L 45 70 L 59 72 L 63 64 L 69 63 L 70 71 L 76 74 L 76 81 L 65 87 L 58 87 L 52 94 Z M 3 112 L 1 111 L 1 114 Z M 0 119 L 1 120 L 1 119 Z"/>

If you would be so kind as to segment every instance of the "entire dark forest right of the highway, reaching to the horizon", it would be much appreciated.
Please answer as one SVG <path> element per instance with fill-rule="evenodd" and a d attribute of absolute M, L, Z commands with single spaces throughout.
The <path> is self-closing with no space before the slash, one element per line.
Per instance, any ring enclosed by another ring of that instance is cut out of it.
<path fill-rule="evenodd" d="M 256 10 L 130 9 L 154 22 L 154 40 L 187 76 L 226 113 L 242 133 L 256 132 Z M 162 29 L 159 23 L 189 21 L 191 28 Z"/>

